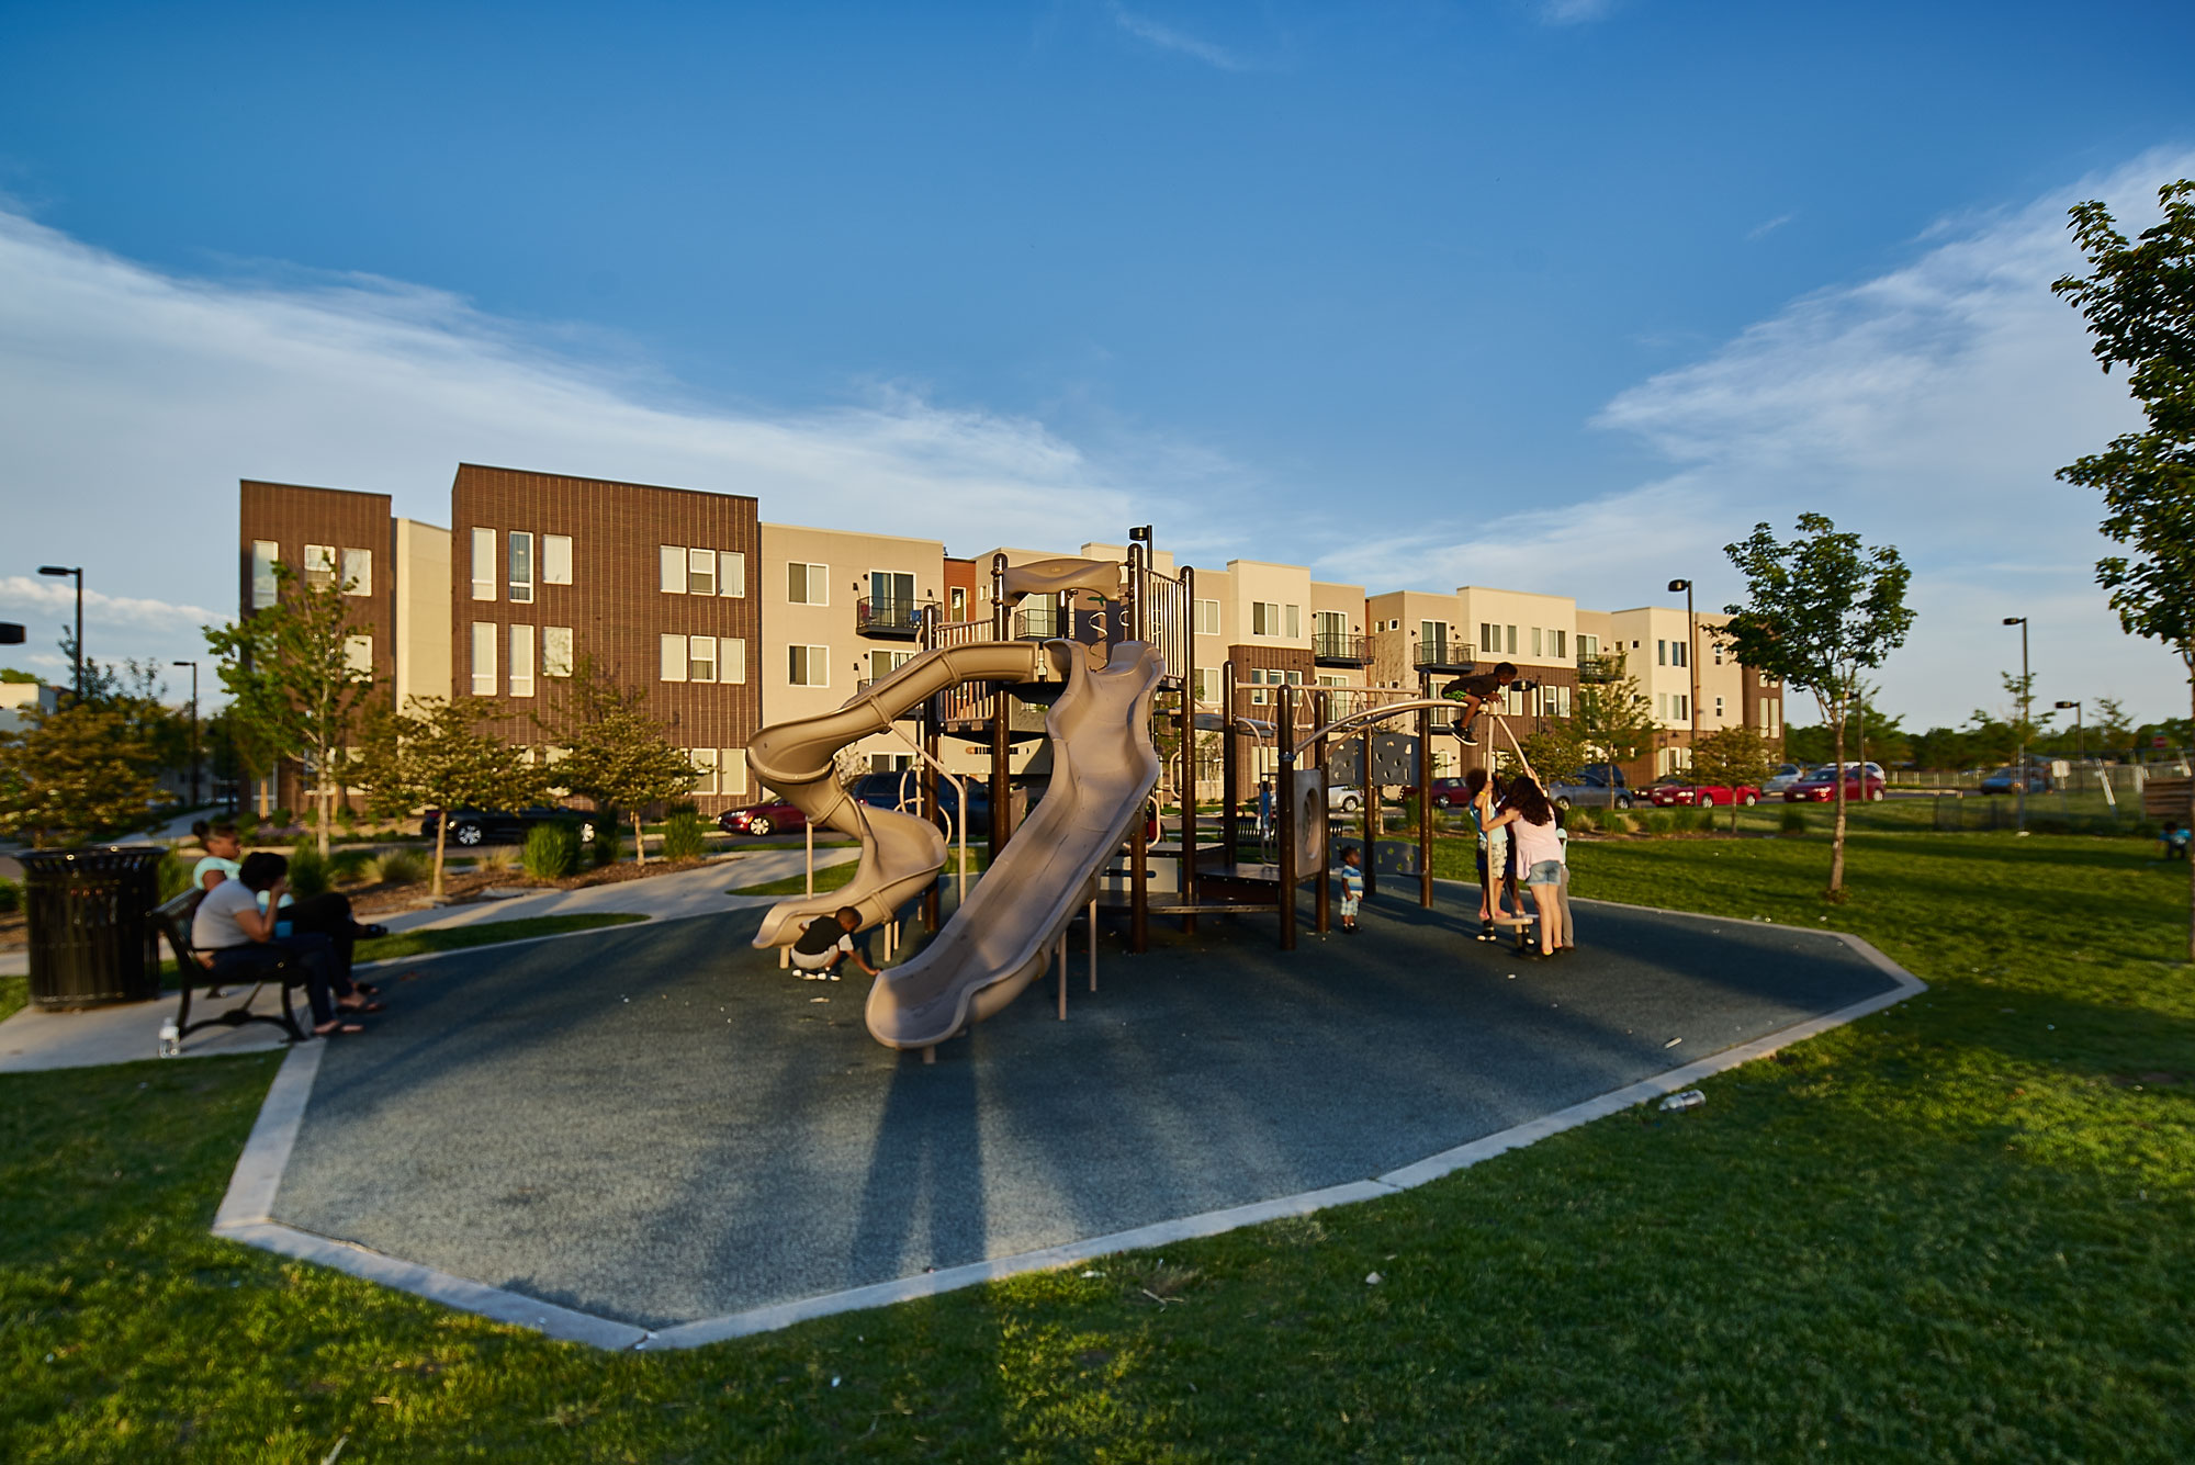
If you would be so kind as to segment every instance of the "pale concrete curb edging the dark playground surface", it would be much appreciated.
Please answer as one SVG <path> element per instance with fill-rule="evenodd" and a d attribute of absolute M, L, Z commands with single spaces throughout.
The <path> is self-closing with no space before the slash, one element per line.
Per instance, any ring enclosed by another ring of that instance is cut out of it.
<path fill-rule="evenodd" d="M 1442 884 L 1471 884 L 1471 882 L 1442 882 Z M 1594 906 L 1618 906 L 1622 910 L 1642 910 L 1651 915 L 1686 917 L 1692 921 L 1727 921 L 1736 925 L 1760 925 L 1760 921 L 1747 921 L 1743 917 L 1710 917 L 1697 910 L 1662 910 L 1657 906 L 1624 906 L 1622 901 L 1578 901 Z M 1319 1191 L 1299 1191 L 1295 1195 L 1280 1195 L 1273 1200 L 1260 1200 L 1245 1206 L 1229 1206 L 1225 1211 L 1205 1211 L 1198 1215 L 1185 1215 L 1170 1222 L 1152 1222 L 1150 1226 L 1137 1226 L 1133 1230 L 1117 1230 L 1104 1237 L 1089 1237 L 1082 1241 L 1067 1241 L 1060 1246 L 1047 1246 L 1034 1252 L 1016 1252 L 1012 1257 L 992 1257 L 986 1261 L 972 1261 L 968 1265 L 946 1268 L 942 1272 L 924 1272 L 922 1276 L 902 1276 L 887 1283 L 871 1283 L 867 1287 L 849 1287 L 845 1292 L 825 1292 L 821 1296 L 797 1298 L 792 1303 L 773 1303 L 768 1307 L 753 1307 L 746 1311 L 724 1314 L 718 1318 L 696 1318 L 694 1322 L 680 1322 L 661 1331 L 650 1331 L 634 1327 L 630 1322 L 617 1322 L 612 1318 L 599 1318 L 595 1314 L 575 1311 L 571 1307 L 558 1307 L 555 1303 L 544 1303 L 531 1298 L 522 1292 L 509 1292 L 505 1287 L 489 1287 L 485 1283 L 468 1281 L 463 1276 L 452 1276 L 448 1272 L 437 1272 L 413 1261 L 402 1261 L 351 1241 L 336 1241 L 329 1237 L 312 1235 L 283 1226 L 274 1222 L 268 1213 L 274 1206 L 277 1189 L 281 1186 L 281 1176 L 290 1165 L 290 1149 L 296 1145 L 299 1125 L 305 1118 L 305 1103 L 312 1099 L 314 1077 L 320 1072 L 323 1044 L 299 1044 L 283 1059 L 281 1072 L 274 1075 L 274 1083 L 268 1088 L 266 1103 L 259 1110 L 259 1121 L 252 1125 L 252 1134 L 244 1145 L 244 1154 L 237 1160 L 237 1169 L 228 1182 L 228 1195 L 222 1200 L 222 1208 L 213 1219 L 213 1235 L 239 1241 L 244 1246 L 257 1246 L 261 1250 L 277 1252 L 281 1257 L 296 1257 L 301 1261 L 314 1261 L 325 1268 L 334 1268 L 349 1276 L 380 1283 L 384 1287 L 395 1287 L 399 1292 L 410 1292 L 428 1301 L 454 1307 L 459 1311 L 472 1311 L 494 1322 L 509 1322 L 514 1327 L 533 1329 L 547 1338 L 558 1338 L 562 1342 L 584 1342 L 595 1349 L 632 1349 L 632 1351 L 654 1351 L 654 1349 L 696 1349 L 711 1342 L 724 1342 L 729 1338 L 748 1338 L 753 1333 L 768 1333 L 795 1322 L 806 1322 L 810 1318 L 828 1318 L 841 1311 L 860 1311 L 867 1307 L 887 1307 L 891 1303 L 907 1303 L 922 1296 L 937 1296 L 942 1292 L 957 1292 L 961 1287 L 975 1287 L 986 1281 L 999 1281 L 1005 1276 L 1018 1276 L 1025 1272 L 1049 1272 L 1056 1268 L 1073 1265 L 1078 1261 L 1093 1261 L 1098 1257 L 1146 1250 L 1155 1246 L 1170 1246 L 1174 1241 L 1190 1241 L 1196 1237 L 1214 1237 L 1225 1230 L 1238 1230 L 1242 1226 L 1258 1226 L 1262 1222 L 1273 1222 L 1291 1215 L 1308 1215 L 1313 1211 L 1324 1211 L 1328 1206 L 1350 1206 L 1365 1200 L 1378 1200 L 1383 1195 L 1400 1195 L 1414 1186 L 1453 1176 L 1460 1169 L 1468 1169 L 1482 1160 L 1490 1160 L 1510 1149 L 1523 1149 L 1547 1136 L 1563 1134 L 1565 1129 L 1576 1129 L 1596 1118 L 1607 1118 L 1633 1105 L 1646 1103 L 1662 1094 L 1673 1094 L 1681 1088 L 1690 1088 L 1699 1079 L 1725 1072 L 1741 1064 L 1767 1057 L 1778 1048 L 1806 1037 L 1817 1037 L 1831 1029 L 1844 1026 L 1886 1007 L 1903 1002 L 1921 991 L 1927 991 L 1927 983 L 1896 965 L 1872 943 L 1855 936 L 1850 932 L 1815 930 L 1806 925 L 1785 925 L 1776 923 L 1780 930 L 1796 932 L 1802 936 L 1822 936 L 1837 941 L 1859 956 L 1864 956 L 1872 967 L 1883 972 L 1892 983 L 1890 991 L 1864 998 L 1848 1007 L 1839 1007 L 1833 1013 L 1820 1018 L 1809 1018 L 1806 1022 L 1796 1022 L 1787 1029 L 1778 1029 L 1752 1042 L 1710 1053 L 1703 1059 L 1686 1064 L 1684 1068 L 1670 1068 L 1651 1079 L 1640 1079 L 1637 1083 L 1626 1083 L 1624 1088 L 1585 1099 L 1554 1114 L 1541 1114 L 1539 1118 L 1528 1118 L 1521 1125 L 1510 1125 L 1497 1134 L 1488 1134 L 1471 1140 L 1468 1145 L 1457 1145 L 1455 1149 L 1444 1149 L 1440 1154 L 1427 1156 L 1414 1165 L 1392 1169 L 1385 1176 L 1374 1176 L 1370 1180 L 1354 1180 L 1348 1184 L 1326 1186 Z M 562 934 L 593 934 L 593 932 L 560 932 L 558 936 L 538 936 L 538 941 L 558 941 Z M 520 943 L 507 943 L 520 945 Z M 457 954 L 457 952 L 446 952 Z"/>

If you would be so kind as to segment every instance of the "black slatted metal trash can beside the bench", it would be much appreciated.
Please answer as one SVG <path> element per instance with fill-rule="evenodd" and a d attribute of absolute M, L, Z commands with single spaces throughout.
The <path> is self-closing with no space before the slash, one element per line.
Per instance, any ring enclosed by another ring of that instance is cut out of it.
<path fill-rule="evenodd" d="M 158 844 L 33 849 L 22 860 L 31 1000 L 99 1007 L 160 996 Z"/>

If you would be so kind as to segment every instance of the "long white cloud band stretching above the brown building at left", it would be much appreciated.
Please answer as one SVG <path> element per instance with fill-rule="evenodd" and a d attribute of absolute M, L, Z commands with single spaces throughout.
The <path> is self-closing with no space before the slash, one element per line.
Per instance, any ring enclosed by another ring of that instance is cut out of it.
<path fill-rule="evenodd" d="M 160 274 L 0 213 L 0 618 L 31 640 L 72 605 L 31 570 L 66 561 L 86 566 L 92 656 L 202 654 L 202 605 L 237 597 L 237 478 L 384 491 L 441 524 L 457 463 L 496 463 L 753 493 L 770 520 L 959 553 L 1117 540 L 1157 507 L 1209 533 L 1247 491 L 1203 450 L 1122 434 L 1106 465 L 1038 421 L 893 386 L 812 410 L 696 404 L 573 331 L 266 274 L 283 283 Z"/>

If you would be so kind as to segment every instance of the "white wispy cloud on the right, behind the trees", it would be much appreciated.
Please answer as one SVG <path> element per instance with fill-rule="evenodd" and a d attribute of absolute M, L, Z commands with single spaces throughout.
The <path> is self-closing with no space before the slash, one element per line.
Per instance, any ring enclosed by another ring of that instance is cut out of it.
<path fill-rule="evenodd" d="M 2158 182 L 2188 173 L 2195 156 L 2153 154 L 1938 226 L 1905 268 L 1804 296 L 1620 393 L 1596 425 L 1659 450 L 1670 472 L 1655 482 L 1352 550 L 1321 570 L 1506 583 L 1596 607 L 1664 603 L 1662 581 L 1681 575 L 1719 607 L 1743 592 L 1721 546 L 1756 520 L 1789 533 L 1813 509 L 1914 566 L 1921 614 L 1883 675 L 1886 704 L 1910 719 L 1960 722 L 2002 700 L 1997 675 L 2019 667 L 2008 614 L 2033 621 L 2039 697 L 2118 695 L 2147 717 L 2184 717 L 2177 660 L 2125 636 L 2094 586 L 2107 553 L 2094 496 L 2052 480 L 2138 412 L 2050 281 L 2081 270 L 2065 235 L 2074 200 L 2149 219 Z"/>

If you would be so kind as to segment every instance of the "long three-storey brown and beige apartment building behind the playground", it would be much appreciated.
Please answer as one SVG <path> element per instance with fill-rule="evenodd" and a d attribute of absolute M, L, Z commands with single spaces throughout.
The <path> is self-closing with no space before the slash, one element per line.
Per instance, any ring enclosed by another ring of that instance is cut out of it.
<path fill-rule="evenodd" d="M 713 814 L 755 796 L 744 750 L 766 722 L 843 706 L 922 645 L 924 614 L 944 623 L 992 616 L 992 561 L 1128 557 L 1128 546 L 1073 550 L 1001 546 L 970 557 L 939 540 L 799 524 L 764 524 L 751 496 L 461 465 L 450 526 L 399 520 L 386 493 L 246 480 L 241 485 L 244 614 L 272 603 L 274 564 L 312 583 L 345 586 L 358 601 L 360 669 L 399 702 L 476 693 L 509 711 L 496 730 L 547 743 L 560 691 L 590 660 L 604 675 L 645 686 L 652 713 L 696 768 L 696 803 Z M 1152 568 L 1177 572 L 1166 550 Z M 1690 759 L 1692 678 L 1699 730 L 1747 722 L 1782 735 L 1780 689 L 1716 649 L 1721 616 L 1699 616 L 1697 654 L 1686 612 L 1580 610 L 1574 599 L 1460 586 L 1453 592 L 1315 581 L 1306 566 L 1229 559 L 1198 568 L 1190 605 L 1192 665 L 1183 678 L 1198 708 L 1220 711 L 1234 669 L 1234 713 L 1271 724 L 1277 686 L 1306 691 L 1414 691 L 1497 660 L 1530 689 L 1504 711 L 1526 735 L 1567 717 L 1576 686 L 1637 675 L 1662 730 L 1635 774 L 1648 781 Z M 1117 627 L 1119 603 L 1025 603 L 1012 634 L 1095 638 Z M 1695 660 L 1699 665 L 1695 667 Z M 1014 768 L 1043 757 L 1043 708 L 1014 717 Z M 948 728 L 950 732 L 950 728 Z M 983 774 L 988 737 L 948 737 L 944 763 Z M 1275 768 L 1271 735 L 1238 735 L 1247 796 Z M 865 737 L 854 761 L 915 761 L 915 715 Z M 1436 772 L 1462 772 L 1464 750 L 1436 743 Z M 1486 752 L 1477 757 L 1488 757 Z M 1218 759 L 1205 792 L 1218 792 Z M 290 785 L 263 798 L 296 803 Z"/>

